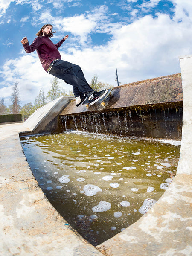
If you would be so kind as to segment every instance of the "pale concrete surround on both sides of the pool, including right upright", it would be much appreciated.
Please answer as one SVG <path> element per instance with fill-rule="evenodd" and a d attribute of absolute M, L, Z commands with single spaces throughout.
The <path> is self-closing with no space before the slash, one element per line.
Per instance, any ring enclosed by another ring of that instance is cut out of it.
<path fill-rule="evenodd" d="M 192 55 L 180 58 L 180 65 L 183 129 L 177 175 L 142 218 L 97 247 L 70 227 L 38 187 L 19 139 L 31 129 L 0 125 L 0 256 L 192 255 Z"/>

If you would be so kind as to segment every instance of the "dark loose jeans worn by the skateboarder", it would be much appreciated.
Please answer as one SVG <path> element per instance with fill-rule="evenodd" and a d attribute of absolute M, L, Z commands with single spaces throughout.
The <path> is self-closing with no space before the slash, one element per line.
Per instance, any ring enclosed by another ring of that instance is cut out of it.
<path fill-rule="evenodd" d="M 52 68 L 49 74 L 64 80 L 67 84 L 73 85 L 75 97 L 83 96 L 83 93 L 86 96 L 90 96 L 94 92 L 78 65 L 62 60 L 56 60 L 51 65 Z"/>

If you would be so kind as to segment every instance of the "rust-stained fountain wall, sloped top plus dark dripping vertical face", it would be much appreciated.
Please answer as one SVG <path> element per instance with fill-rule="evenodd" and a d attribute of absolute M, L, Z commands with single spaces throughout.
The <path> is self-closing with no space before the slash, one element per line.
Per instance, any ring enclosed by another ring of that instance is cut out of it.
<path fill-rule="evenodd" d="M 104 107 L 76 108 L 71 101 L 60 117 L 63 131 L 181 140 L 182 110 L 181 75 L 175 74 L 114 87 Z"/>

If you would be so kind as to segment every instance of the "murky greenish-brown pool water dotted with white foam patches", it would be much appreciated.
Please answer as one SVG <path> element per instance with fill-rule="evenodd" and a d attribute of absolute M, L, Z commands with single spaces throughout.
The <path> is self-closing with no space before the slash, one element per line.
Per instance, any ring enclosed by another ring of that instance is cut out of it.
<path fill-rule="evenodd" d="M 176 174 L 180 146 L 85 132 L 21 138 L 39 186 L 93 245 L 137 221 Z"/>

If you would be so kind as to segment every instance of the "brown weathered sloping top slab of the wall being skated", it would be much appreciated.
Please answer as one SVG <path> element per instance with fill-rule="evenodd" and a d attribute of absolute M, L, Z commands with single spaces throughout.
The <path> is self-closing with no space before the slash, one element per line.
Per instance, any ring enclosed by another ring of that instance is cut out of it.
<path fill-rule="evenodd" d="M 169 103 L 182 102 L 182 81 L 181 74 L 162 76 L 154 79 L 148 79 L 131 84 L 124 84 L 113 87 L 110 100 L 106 102 L 105 107 L 93 104 L 89 108 L 81 105 L 76 108 L 74 102 L 70 102 L 61 116 L 88 113 L 116 111 L 127 107 L 154 107 L 155 105 L 167 105 Z"/>

